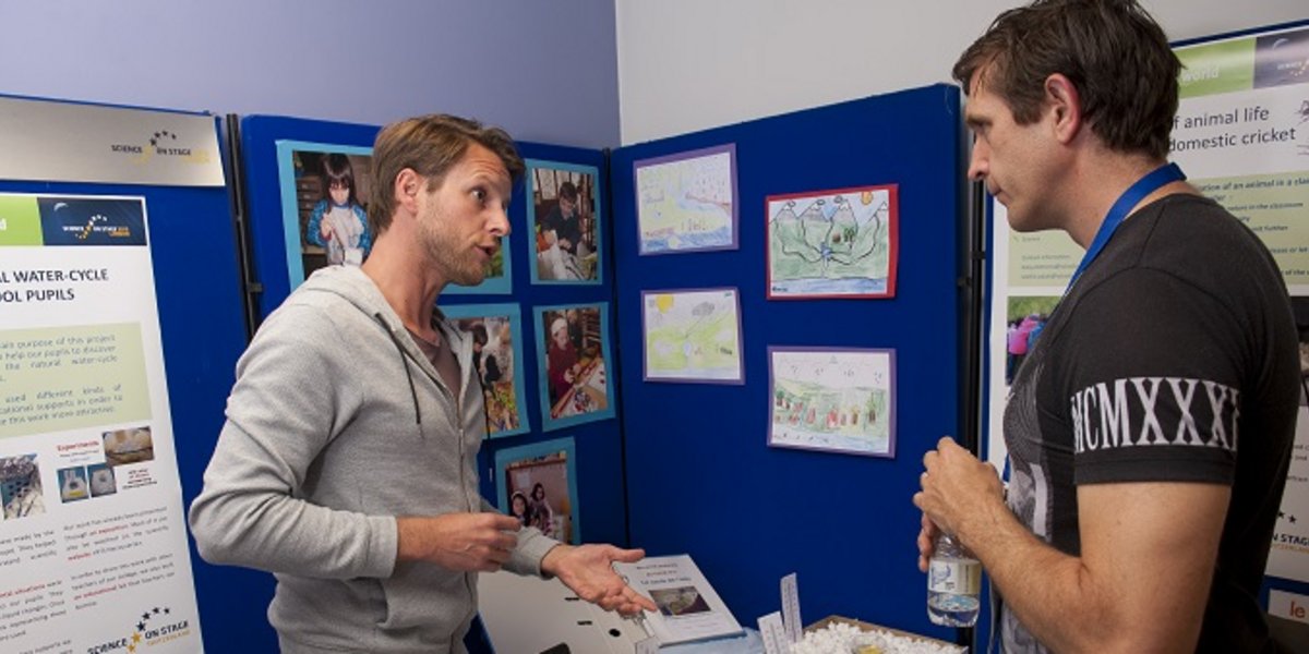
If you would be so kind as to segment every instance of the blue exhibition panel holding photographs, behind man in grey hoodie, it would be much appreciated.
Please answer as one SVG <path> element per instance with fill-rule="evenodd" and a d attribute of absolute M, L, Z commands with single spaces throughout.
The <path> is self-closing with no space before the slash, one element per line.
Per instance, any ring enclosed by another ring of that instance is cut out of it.
<path fill-rule="evenodd" d="M 260 319 L 267 317 L 292 290 L 293 271 L 288 267 L 288 247 L 284 221 L 287 201 L 283 190 L 292 186 L 281 179 L 278 161 L 278 143 L 302 144 L 305 149 L 323 152 L 364 153 L 370 149 L 377 136 L 377 126 L 330 123 L 288 116 L 247 116 L 241 120 L 241 146 L 245 167 L 246 200 L 249 207 L 249 229 L 257 281 L 263 293 L 257 301 Z M 321 148 L 319 148 L 321 146 Z M 538 370 L 538 351 L 542 340 L 537 334 L 535 310 L 545 306 L 607 303 L 609 322 L 606 334 L 617 337 L 613 327 L 613 258 L 609 255 L 606 239 L 610 239 L 611 225 L 607 207 L 607 181 L 605 153 L 555 145 L 520 143 L 524 158 L 535 161 L 542 167 L 585 167 L 597 173 L 597 198 L 600 199 L 600 275 L 596 284 L 534 284 L 535 269 L 533 229 L 528 225 L 528 200 L 525 184 L 514 187 L 509 209 L 513 233 L 504 242 L 508 258 L 511 284 L 500 292 L 480 292 L 474 289 L 448 288 L 437 300 L 441 306 L 454 305 L 517 305 L 521 335 L 521 357 L 517 358 L 516 374 L 524 377 L 524 396 L 518 402 L 526 408 L 529 429 L 525 433 L 501 436 L 483 442 L 479 454 L 479 473 L 482 493 L 492 504 L 497 498 L 495 455 L 497 451 L 537 443 L 556 438 L 572 438 L 575 442 L 577 489 L 577 513 L 580 535 L 585 542 L 626 542 L 626 508 L 623 504 L 622 442 L 619 424 L 614 419 L 590 422 L 563 422 L 560 429 L 542 429 L 539 405 L 541 373 Z M 285 170 L 283 162 L 281 169 Z M 367 201 L 367 199 L 361 199 Z M 292 218 L 295 220 L 295 218 Z M 617 343 L 609 344 L 611 352 L 618 352 Z M 617 373 L 609 373 L 617 379 Z M 403 379 L 398 383 L 404 383 Z M 614 403 L 617 404 L 617 402 Z M 620 415 L 617 407 L 611 407 Z"/>

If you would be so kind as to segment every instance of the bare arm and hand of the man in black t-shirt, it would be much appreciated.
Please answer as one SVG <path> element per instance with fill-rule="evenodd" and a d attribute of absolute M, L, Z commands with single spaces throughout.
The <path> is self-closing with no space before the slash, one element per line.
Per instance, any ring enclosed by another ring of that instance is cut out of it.
<path fill-rule="evenodd" d="M 1081 556 L 1068 556 L 1018 523 L 1001 502 L 990 466 L 953 442 L 942 442 L 941 454 L 929 454 L 925 463 L 915 504 L 973 549 L 1005 604 L 1049 649 L 1195 650 L 1228 487 L 1081 485 Z M 973 492 L 970 501 L 957 500 L 965 488 L 984 487 L 988 492 Z"/>

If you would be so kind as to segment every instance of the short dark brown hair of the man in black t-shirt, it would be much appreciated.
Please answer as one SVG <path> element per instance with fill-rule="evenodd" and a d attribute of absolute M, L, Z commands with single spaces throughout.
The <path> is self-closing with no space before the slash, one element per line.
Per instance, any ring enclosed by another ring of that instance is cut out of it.
<path fill-rule="evenodd" d="M 1046 78 L 1062 73 L 1107 148 L 1165 158 L 1181 65 L 1135 0 L 1037 0 L 996 17 L 953 75 L 965 93 L 970 82 L 984 86 L 1004 99 L 1014 122 L 1030 124 Z"/>

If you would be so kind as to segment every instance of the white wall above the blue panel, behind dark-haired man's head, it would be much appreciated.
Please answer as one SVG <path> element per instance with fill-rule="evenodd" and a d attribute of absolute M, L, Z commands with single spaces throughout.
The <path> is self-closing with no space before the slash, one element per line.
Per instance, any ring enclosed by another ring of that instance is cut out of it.
<path fill-rule="evenodd" d="M 1016 0 L 615 0 L 623 145 L 950 81 Z M 1305 0 L 1143 0 L 1173 41 L 1309 18 Z"/>

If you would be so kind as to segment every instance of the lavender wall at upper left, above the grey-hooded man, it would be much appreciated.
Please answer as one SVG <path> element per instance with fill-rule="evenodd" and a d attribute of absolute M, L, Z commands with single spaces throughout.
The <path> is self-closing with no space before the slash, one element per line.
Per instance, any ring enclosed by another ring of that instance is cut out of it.
<path fill-rule="evenodd" d="M 618 141 L 613 0 L 0 0 L 0 94 Z"/>

